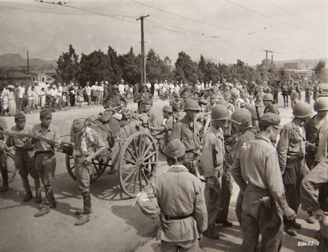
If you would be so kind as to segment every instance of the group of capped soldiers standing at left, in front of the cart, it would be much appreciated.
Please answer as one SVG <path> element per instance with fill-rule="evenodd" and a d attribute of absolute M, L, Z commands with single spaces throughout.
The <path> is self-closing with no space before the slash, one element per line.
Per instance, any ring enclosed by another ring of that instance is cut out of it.
<path fill-rule="evenodd" d="M 49 109 L 40 111 L 40 122 L 33 127 L 26 123 L 23 112 L 14 116 L 15 125 L 8 129 L 6 121 L 0 117 L 0 167 L 3 185 L 0 192 L 6 192 L 8 185 L 8 170 L 5 160 L 7 148 L 14 146 L 14 163 L 18 170 L 26 194 L 23 201 L 30 201 L 33 197 L 28 175 L 34 179 L 35 203 L 42 202 L 40 181 L 44 185 L 44 205 L 35 213 L 35 217 L 48 214 L 51 208 L 56 208 L 57 203 L 53 195 L 53 180 L 56 170 L 55 151 L 60 151 L 62 141 L 59 130 L 51 124 L 52 114 Z M 74 120 L 71 129 L 72 156 L 75 161 L 75 175 L 79 191 L 83 196 L 83 209 L 75 211 L 80 218 L 75 225 L 83 225 L 90 221 L 92 213 L 91 198 L 89 193 L 91 161 L 107 150 L 104 141 L 98 134 L 87 127 L 82 120 Z"/>

